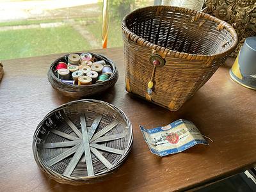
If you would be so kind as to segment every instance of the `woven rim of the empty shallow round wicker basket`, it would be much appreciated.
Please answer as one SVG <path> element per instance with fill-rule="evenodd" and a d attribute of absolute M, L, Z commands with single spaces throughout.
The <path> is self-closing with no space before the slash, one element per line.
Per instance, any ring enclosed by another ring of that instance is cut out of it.
<path fill-rule="evenodd" d="M 51 170 L 51 168 L 45 166 L 45 164 L 42 163 L 42 159 L 40 159 L 38 157 L 38 151 L 36 150 L 37 149 L 36 138 L 38 138 L 38 131 L 40 131 L 40 129 L 42 127 L 42 124 L 44 124 L 45 120 L 47 118 L 49 118 L 52 114 L 56 113 L 57 111 L 60 111 L 61 109 L 66 108 L 66 107 L 68 107 L 72 104 L 86 103 L 86 102 L 91 102 L 92 104 L 93 103 L 103 104 L 103 105 L 106 105 L 109 108 L 112 108 L 113 110 L 115 110 L 116 113 L 120 113 L 120 115 L 122 115 L 124 121 L 126 122 L 127 127 L 129 127 L 130 135 L 129 135 L 129 138 L 127 139 L 127 140 L 129 140 L 129 145 L 127 146 L 127 148 L 125 148 L 124 156 L 121 157 L 121 159 L 119 159 L 118 163 L 116 163 L 115 166 L 113 168 L 109 169 L 109 170 L 105 170 L 104 172 L 97 173 L 93 176 L 84 176 L 84 177 L 73 177 L 71 175 L 70 176 L 64 176 L 64 175 L 61 175 L 60 173 L 55 172 L 54 170 Z M 33 134 L 32 149 L 33 149 L 33 156 L 34 156 L 34 159 L 36 161 L 36 164 L 38 164 L 38 167 L 40 168 L 40 170 L 47 173 L 47 176 L 51 177 L 54 180 L 56 180 L 56 177 L 59 177 L 59 179 L 62 179 L 62 180 L 61 181 L 57 180 L 58 182 L 63 182 L 63 183 L 67 183 L 67 184 L 74 184 L 75 182 L 77 182 L 77 184 L 79 184 L 79 182 L 82 182 L 83 184 L 85 184 L 91 179 L 97 179 L 97 178 L 100 178 L 100 177 L 104 177 L 105 175 L 109 175 L 109 174 L 115 172 L 115 170 L 118 170 L 118 168 L 122 165 L 122 163 L 124 163 L 125 159 L 127 159 L 129 153 L 131 152 L 132 143 L 133 143 L 132 124 L 131 124 L 131 121 L 129 120 L 129 118 L 127 117 L 127 115 L 125 115 L 124 111 L 122 111 L 122 109 L 120 109 L 120 108 L 116 107 L 115 105 L 110 104 L 106 101 L 103 101 L 103 100 L 80 99 L 80 100 L 72 100 L 72 101 L 67 102 L 65 104 L 61 104 L 57 108 L 54 108 L 51 111 L 49 111 L 49 113 L 47 113 L 47 115 L 44 116 L 44 118 L 36 126 L 36 130 Z"/>

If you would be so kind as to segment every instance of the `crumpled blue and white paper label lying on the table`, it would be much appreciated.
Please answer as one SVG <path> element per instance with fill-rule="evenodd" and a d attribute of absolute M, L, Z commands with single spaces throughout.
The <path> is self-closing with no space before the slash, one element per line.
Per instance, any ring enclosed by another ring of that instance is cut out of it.
<path fill-rule="evenodd" d="M 196 144 L 209 145 L 195 124 L 184 119 L 153 129 L 140 125 L 140 129 L 152 154 L 161 157 L 182 152 Z"/>

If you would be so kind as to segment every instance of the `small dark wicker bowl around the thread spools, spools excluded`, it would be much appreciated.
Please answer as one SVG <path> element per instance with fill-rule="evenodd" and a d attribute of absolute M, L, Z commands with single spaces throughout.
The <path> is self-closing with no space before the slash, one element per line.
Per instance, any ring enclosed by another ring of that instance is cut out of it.
<path fill-rule="evenodd" d="M 89 52 L 89 53 L 92 54 L 92 56 L 95 56 L 97 60 L 104 60 L 107 65 L 112 66 L 113 74 L 109 77 L 108 80 L 100 83 L 86 85 L 86 86 L 63 83 L 62 81 L 60 81 L 60 79 L 58 79 L 58 77 L 56 77 L 54 70 L 56 68 L 56 65 L 60 61 L 67 62 L 66 60 L 68 56 L 67 54 L 55 60 L 49 67 L 47 76 L 48 76 L 49 82 L 51 83 L 52 88 L 56 89 L 58 92 L 62 93 L 67 97 L 81 98 L 81 97 L 88 97 L 90 95 L 95 95 L 100 92 L 104 92 L 108 88 L 114 86 L 118 79 L 118 70 L 116 69 L 115 63 L 102 54 L 94 54 L 92 52 Z M 77 53 L 77 54 L 80 55 L 81 53 Z"/>

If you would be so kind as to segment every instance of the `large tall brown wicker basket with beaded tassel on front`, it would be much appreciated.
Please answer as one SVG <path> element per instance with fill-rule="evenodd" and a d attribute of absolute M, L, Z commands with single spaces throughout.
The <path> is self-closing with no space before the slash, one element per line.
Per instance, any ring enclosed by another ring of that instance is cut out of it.
<path fill-rule="evenodd" d="M 122 20 L 122 31 L 127 92 L 172 111 L 206 83 L 237 45 L 227 22 L 174 6 L 135 10 Z M 154 61 L 160 63 L 156 70 Z"/>

